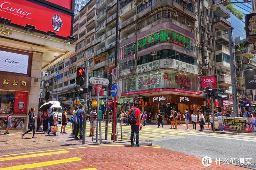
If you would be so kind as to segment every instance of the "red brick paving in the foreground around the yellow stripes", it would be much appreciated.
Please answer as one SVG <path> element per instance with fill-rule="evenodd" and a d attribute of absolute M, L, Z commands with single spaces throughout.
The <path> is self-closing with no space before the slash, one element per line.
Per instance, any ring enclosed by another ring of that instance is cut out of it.
<path fill-rule="evenodd" d="M 85 169 L 85 168 L 97 168 L 101 169 L 211 169 L 211 170 L 243 170 L 242 168 L 234 165 L 215 165 L 213 160 L 212 165 L 209 167 L 204 167 L 201 163 L 202 158 L 174 152 L 170 150 L 165 150 L 156 147 L 140 146 L 131 147 L 130 145 L 104 145 L 104 146 L 85 146 L 77 148 L 65 148 L 57 149 L 55 151 L 45 151 L 45 152 L 56 152 L 65 150 L 68 153 L 59 153 L 55 155 L 45 155 L 40 157 L 32 158 L 20 158 L 14 160 L 1 161 L 0 167 L 10 167 L 17 165 L 33 164 L 38 162 L 43 162 L 43 167 L 34 167 L 31 169 Z M 44 152 L 36 152 L 44 153 Z M 20 155 L 29 155 L 35 153 L 21 153 Z M 1 156 L 0 158 L 20 156 Z M 44 166 L 45 161 L 49 160 L 59 160 L 78 157 L 81 160 L 66 162 L 54 165 Z"/>

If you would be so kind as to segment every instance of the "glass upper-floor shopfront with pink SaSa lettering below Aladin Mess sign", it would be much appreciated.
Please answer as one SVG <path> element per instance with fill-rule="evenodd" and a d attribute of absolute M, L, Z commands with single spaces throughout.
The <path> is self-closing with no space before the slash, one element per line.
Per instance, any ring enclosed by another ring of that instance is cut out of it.
<path fill-rule="evenodd" d="M 122 92 L 133 92 L 157 88 L 177 88 L 197 91 L 197 76 L 179 71 L 164 70 L 124 78 Z"/>

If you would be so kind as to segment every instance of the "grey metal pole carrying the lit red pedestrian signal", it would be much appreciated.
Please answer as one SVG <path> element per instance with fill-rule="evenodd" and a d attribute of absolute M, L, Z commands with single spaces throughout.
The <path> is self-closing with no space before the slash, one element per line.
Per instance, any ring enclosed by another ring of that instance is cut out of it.
<path fill-rule="evenodd" d="M 87 93 L 88 93 L 88 71 L 89 71 L 89 59 L 86 59 L 86 63 L 85 63 L 85 88 L 87 89 L 87 92 L 84 93 L 84 103 L 85 103 L 85 107 L 84 107 L 84 122 L 83 122 L 83 143 L 85 144 L 85 131 L 86 131 L 86 112 L 87 112 Z"/>

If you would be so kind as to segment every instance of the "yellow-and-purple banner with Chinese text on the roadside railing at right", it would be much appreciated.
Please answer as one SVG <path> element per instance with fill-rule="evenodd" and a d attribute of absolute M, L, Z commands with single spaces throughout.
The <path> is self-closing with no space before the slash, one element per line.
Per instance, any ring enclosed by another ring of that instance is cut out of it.
<path fill-rule="evenodd" d="M 256 132 L 256 118 L 218 117 L 218 127 L 222 130 Z"/>

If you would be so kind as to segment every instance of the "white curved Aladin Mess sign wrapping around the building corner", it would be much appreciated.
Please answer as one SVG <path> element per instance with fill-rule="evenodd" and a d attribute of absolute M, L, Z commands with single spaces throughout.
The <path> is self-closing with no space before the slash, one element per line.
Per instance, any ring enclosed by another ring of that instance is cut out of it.
<path fill-rule="evenodd" d="M 136 67 L 136 73 L 139 74 L 139 73 L 144 73 L 152 70 L 166 69 L 166 68 L 170 68 L 170 69 L 172 68 L 176 70 L 186 71 L 188 73 L 198 74 L 197 66 L 188 64 L 185 62 L 181 62 L 179 60 L 174 60 L 174 59 L 162 59 L 162 60 L 157 60 L 150 63 L 138 65 Z"/>

